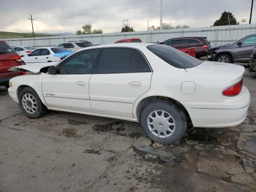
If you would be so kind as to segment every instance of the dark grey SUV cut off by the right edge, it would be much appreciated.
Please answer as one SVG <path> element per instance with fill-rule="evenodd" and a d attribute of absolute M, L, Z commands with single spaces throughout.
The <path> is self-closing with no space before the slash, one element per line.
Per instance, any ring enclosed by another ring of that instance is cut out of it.
<path fill-rule="evenodd" d="M 233 44 L 214 46 L 209 49 L 208 60 L 225 63 L 248 63 L 256 47 L 256 34 L 248 35 Z"/>

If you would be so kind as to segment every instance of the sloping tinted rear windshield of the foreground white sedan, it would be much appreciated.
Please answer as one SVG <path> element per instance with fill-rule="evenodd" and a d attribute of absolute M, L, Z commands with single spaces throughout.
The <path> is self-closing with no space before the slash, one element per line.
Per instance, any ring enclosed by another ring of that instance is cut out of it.
<path fill-rule="evenodd" d="M 203 62 L 167 45 L 149 45 L 147 48 L 156 56 L 176 68 L 192 68 Z"/>

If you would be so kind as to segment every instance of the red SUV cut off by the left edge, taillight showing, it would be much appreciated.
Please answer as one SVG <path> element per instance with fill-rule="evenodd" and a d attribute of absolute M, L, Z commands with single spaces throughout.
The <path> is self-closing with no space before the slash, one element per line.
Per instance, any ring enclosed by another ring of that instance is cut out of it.
<path fill-rule="evenodd" d="M 5 41 L 0 41 L 0 86 L 9 87 L 9 80 L 23 72 L 8 71 L 8 68 L 21 65 L 21 57 Z"/>

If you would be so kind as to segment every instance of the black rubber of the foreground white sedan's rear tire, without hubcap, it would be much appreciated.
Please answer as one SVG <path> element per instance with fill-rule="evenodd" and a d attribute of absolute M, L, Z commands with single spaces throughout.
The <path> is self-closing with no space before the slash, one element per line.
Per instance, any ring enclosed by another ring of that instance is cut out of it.
<path fill-rule="evenodd" d="M 148 116 L 155 110 L 164 110 L 172 116 L 175 122 L 175 130 L 172 135 L 166 138 L 160 138 L 153 134 L 148 128 Z M 140 122 L 145 134 L 151 140 L 165 145 L 173 144 L 180 140 L 187 128 L 187 120 L 184 111 L 177 104 L 169 102 L 168 100 L 155 100 L 150 102 L 150 104 L 143 109 Z"/>

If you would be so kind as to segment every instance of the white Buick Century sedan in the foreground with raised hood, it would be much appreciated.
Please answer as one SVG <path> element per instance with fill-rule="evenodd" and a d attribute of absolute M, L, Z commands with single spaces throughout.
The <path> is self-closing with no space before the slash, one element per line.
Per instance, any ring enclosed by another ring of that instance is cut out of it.
<path fill-rule="evenodd" d="M 180 140 L 187 119 L 194 127 L 236 126 L 250 104 L 243 66 L 201 61 L 161 44 L 93 46 L 58 63 L 10 70 L 38 73 L 12 78 L 8 89 L 30 118 L 50 109 L 135 121 L 161 144 Z"/>

